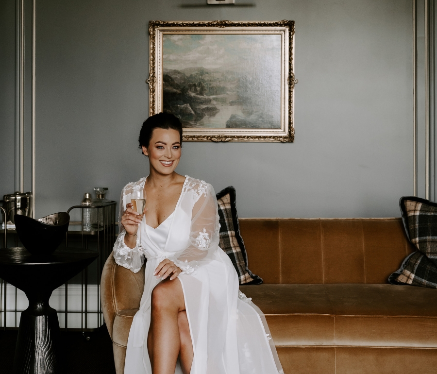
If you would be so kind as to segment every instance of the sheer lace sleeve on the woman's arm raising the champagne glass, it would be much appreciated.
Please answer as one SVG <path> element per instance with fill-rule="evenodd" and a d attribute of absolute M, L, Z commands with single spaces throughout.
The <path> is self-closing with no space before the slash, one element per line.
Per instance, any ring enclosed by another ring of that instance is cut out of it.
<path fill-rule="evenodd" d="M 121 216 L 124 214 L 126 204 L 131 202 L 132 188 L 136 184 L 144 185 L 145 178 L 140 179 L 138 182 L 127 184 L 121 191 L 120 197 L 120 212 L 118 214 L 118 238 L 114 244 L 114 258 L 118 265 L 130 269 L 133 272 L 139 272 L 144 263 L 144 254 L 138 250 L 139 238 L 136 237 L 136 245 L 134 248 L 129 248 L 124 242 L 124 236 L 126 231 L 121 224 Z"/>

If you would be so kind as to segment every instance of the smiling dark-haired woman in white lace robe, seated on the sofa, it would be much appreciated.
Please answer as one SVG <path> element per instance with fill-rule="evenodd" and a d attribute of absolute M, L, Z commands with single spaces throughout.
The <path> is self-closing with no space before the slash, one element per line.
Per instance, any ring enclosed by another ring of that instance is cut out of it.
<path fill-rule="evenodd" d="M 264 315 L 238 290 L 234 266 L 218 246 L 213 187 L 174 171 L 181 143 L 175 116 L 147 119 L 139 145 L 149 157 L 150 174 L 121 193 L 114 258 L 133 272 L 147 259 L 124 373 L 283 373 Z M 147 214 L 132 208 L 135 187 L 146 191 Z"/>

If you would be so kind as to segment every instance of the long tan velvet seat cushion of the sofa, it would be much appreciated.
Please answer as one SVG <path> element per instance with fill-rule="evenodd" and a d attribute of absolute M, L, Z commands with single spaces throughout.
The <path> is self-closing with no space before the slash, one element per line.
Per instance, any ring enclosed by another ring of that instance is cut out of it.
<path fill-rule="evenodd" d="M 437 290 L 385 284 L 240 289 L 266 315 L 277 346 L 437 348 Z"/>

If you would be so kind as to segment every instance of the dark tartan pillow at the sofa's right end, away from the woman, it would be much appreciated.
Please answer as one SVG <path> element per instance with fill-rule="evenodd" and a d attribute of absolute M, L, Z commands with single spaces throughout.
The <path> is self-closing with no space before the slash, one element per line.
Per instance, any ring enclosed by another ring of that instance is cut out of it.
<path fill-rule="evenodd" d="M 399 202 L 402 221 L 410 242 L 418 249 L 408 255 L 401 268 L 391 274 L 391 284 L 437 288 L 437 204 L 414 196 Z"/>

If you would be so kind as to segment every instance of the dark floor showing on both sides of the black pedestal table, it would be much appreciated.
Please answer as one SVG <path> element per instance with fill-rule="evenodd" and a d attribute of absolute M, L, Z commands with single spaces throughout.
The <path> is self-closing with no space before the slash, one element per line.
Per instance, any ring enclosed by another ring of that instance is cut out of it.
<path fill-rule="evenodd" d="M 18 331 L 0 330 L 0 374 L 12 373 L 15 344 Z M 106 327 L 99 332 L 86 333 L 86 340 L 80 332 L 62 332 L 61 357 L 64 374 L 115 374 L 112 342 Z"/>

